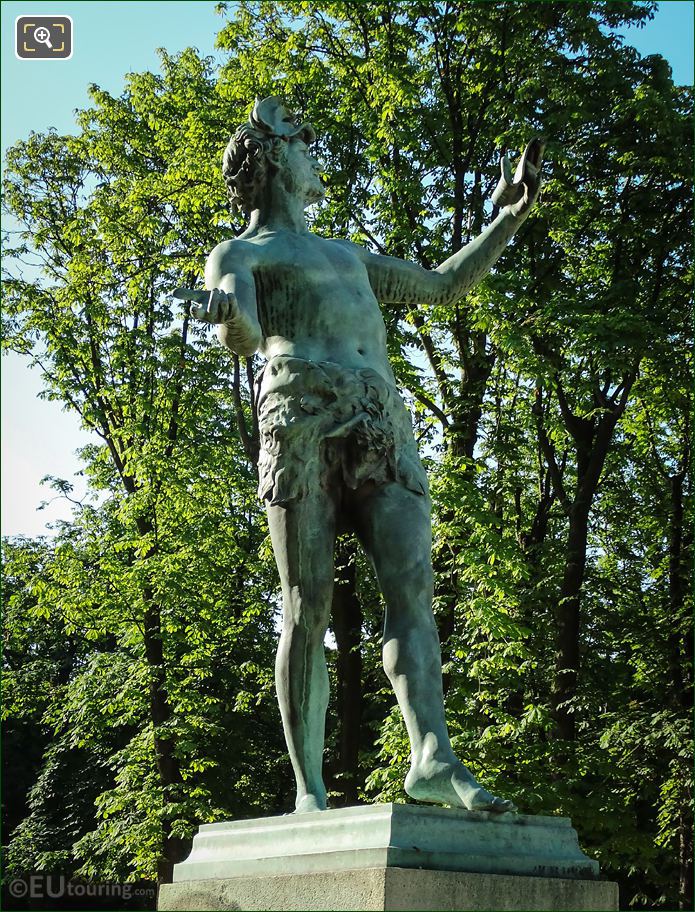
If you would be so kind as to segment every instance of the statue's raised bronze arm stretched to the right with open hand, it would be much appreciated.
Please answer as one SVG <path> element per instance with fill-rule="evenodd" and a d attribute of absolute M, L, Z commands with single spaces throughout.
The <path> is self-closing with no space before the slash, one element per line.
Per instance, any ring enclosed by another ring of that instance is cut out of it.
<path fill-rule="evenodd" d="M 447 304 L 458 301 L 487 275 L 531 211 L 540 189 L 544 143 L 533 139 L 512 177 L 502 159 L 502 177 L 492 195 L 502 206 L 497 218 L 436 269 L 428 270 L 397 257 L 365 253 L 370 283 L 379 301 L 408 304 Z"/>

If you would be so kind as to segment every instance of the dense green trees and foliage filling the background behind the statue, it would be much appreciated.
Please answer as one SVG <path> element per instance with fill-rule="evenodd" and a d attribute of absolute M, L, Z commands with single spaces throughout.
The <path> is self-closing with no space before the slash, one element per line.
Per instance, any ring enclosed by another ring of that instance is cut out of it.
<path fill-rule="evenodd" d="M 93 87 L 76 136 L 8 153 L 3 344 L 95 441 L 95 499 L 4 545 L 8 870 L 166 880 L 199 823 L 291 804 L 259 365 L 170 297 L 240 230 L 221 151 L 281 94 L 319 134 L 314 230 L 427 267 L 489 219 L 500 153 L 547 137 L 495 271 L 454 307 L 384 314 L 431 477 L 451 731 L 523 812 L 572 817 L 624 907 L 688 907 L 692 92 L 617 36 L 651 5 L 224 12 L 219 71 L 162 52 L 122 96 Z M 349 538 L 337 580 L 332 799 L 402 801 L 379 595 Z"/>

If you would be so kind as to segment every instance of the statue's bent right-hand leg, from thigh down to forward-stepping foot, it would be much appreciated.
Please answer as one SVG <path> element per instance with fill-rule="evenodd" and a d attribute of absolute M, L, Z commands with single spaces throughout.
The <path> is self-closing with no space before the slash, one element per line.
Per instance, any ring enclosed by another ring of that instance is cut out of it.
<path fill-rule="evenodd" d="M 357 504 L 358 535 L 386 602 L 384 669 L 411 744 L 408 794 L 469 810 L 514 810 L 480 786 L 454 755 L 444 714 L 441 652 L 432 615 L 429 502 L 398 484 L 372 488 Z"/>

